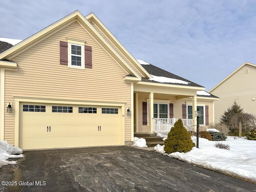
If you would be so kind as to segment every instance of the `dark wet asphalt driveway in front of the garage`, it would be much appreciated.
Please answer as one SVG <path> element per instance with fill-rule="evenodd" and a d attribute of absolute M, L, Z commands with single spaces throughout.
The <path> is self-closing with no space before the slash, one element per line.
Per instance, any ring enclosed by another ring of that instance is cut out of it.
<path fill-rule="evenodd" d="M 0 168 L 0 192 L 226 192 L 256 185 L 128 146 L 24 151 Z M 16 181 L 16 184 L 15 184 Z"/>

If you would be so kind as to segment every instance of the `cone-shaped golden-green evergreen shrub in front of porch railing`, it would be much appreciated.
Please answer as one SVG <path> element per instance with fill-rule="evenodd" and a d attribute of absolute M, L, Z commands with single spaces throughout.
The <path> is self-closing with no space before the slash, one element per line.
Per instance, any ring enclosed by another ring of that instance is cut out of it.
<path fill-rule="evenodd" d="M 168 133 L 164 141 L 164 150 L 167 154 L 174 152 L 188 152 L 195 146 L 191 140 L 190 133 L 184 127 L 182 120 L 179 119 Z"/>

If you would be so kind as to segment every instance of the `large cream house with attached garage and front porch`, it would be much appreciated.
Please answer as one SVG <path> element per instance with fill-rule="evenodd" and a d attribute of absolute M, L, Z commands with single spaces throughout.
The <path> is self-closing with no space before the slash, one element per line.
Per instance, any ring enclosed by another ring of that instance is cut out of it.
<path fill-rule="evenodd" d="M 0 67 L 0 139 L 22 149 L 127 145 L 175 118 L 193 129 L 197 107 L 207 126 L 218 100 L 136 60 L 93 13 L 75 11 L 2 52 Z"/>

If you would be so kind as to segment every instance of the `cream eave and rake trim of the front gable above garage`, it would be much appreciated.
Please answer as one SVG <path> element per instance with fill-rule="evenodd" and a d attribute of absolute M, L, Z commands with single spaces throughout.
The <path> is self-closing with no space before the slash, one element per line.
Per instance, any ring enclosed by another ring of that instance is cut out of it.
<path fill-rule="evenodd" d="M 50 26 L 40 30 L 36 34 L 28 37 L 22 42 L 16 44 L 12 48 L 0 53 L 0 60 L 9 59 L 11 60 L 20 52 L 34 46 L 34 44 L 41 42 L 45 38 L 48 38 L 53 33 L 58 32 L 62 28 L 68 26 L 71 22 L 77 21 L 80 23 L 86 30 L 90 32 L 94 38 L 113 56 L 117 63 L 123 68 L 126 73 L 135 76 L 138 80 L 141 80 L 138 73 L 114 50 L 114 48 L 99 34 L 99 32 L 86 20 L 86 18 L 78 11 L 69 14 L 68 16 L 58 20 L 57 22 L 51 24 Z"/>

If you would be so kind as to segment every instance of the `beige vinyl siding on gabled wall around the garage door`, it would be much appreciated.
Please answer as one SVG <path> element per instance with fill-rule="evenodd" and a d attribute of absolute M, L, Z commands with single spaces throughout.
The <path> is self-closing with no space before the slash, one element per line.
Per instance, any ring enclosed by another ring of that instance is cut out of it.
<path fill-rule="evenodd" d="M 60 41 L 67 41 L 66 37 L 85 39 L 86 45 L 92 46 L 92 69 L 78 70 L 60 65 Z M 127 108 L 131 105 L 130 83 L 123 82 L 127 74 L 78 22 L 56 32 L 12 61 L 18 63 L 18 72 L 6 70 L 5 101 L 12 102 L 13 106 L 14 95 L 126 102 Z M 14 113 L 5 116 L 5 139 L 13 144 Z M 125 120 L 125 140 L 128 141 L 131 140 L 130 122 L 129 118 Z"/>

